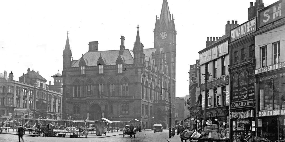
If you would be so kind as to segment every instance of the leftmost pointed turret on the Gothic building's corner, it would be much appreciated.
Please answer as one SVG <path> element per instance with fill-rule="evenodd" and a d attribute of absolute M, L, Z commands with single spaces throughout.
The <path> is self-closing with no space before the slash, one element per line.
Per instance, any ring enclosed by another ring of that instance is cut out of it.
<path fill-rule="evenodd" d="M 69 45 L 69 39 L 68 39 L 68 34 L 69 32 L 67 31 L 67 38 L 66 38 L 66 43 L 65 43 L 65 48 L 63 50 L 63 68 L 69 68 L 71 66 L 71 49 Z"/>

